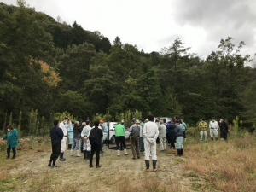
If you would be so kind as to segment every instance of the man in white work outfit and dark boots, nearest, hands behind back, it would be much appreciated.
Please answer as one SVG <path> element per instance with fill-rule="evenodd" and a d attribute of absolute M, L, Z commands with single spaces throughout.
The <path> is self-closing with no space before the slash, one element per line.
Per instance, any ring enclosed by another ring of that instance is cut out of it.
<path fill-rule="evenodd" d="M 153 161 L 153 171 L 156 172 L 156 139 L 159 135 L 159 131 L 157 125 L 154 123 L 154 116 L 149 115 L 148 120 L 148 123 L 145 123 L 143 128 L 146 171 L 149 171 L 151 156 Z"/>

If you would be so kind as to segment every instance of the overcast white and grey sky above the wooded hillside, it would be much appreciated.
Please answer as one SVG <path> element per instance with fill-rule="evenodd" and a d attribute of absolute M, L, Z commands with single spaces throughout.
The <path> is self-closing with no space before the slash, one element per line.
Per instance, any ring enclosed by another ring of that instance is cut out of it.
<path fill-rule="evenodd" d="M 16 4 L 15 0 L 3 3 Z M 255 0 L 26 0 L 37 11 L 84 29 L 99 31 L 111 42 L 160 51 L 182 38 L 201 57 L 217 49 L 221 38 L 246 42 L 244 53 L 256 52 Z"/>

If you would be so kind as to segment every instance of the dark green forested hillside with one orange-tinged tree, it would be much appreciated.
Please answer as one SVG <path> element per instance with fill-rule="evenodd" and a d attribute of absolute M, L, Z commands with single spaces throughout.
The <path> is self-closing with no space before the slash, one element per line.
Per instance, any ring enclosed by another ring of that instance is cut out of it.
<path fill-rule="evenodd" d="M 137 110 L 189 123 L 240 116 L 255 125 L 256 73 L 240 53 L 243 42 L 222 39 L 205 60 L 179 38 L 148 54 L 18 2 L 0 3 L 1 123 L 6 113 L 18 119 L 22 111 L 26 125 L 33 108 L 45 119 L 63 111 L 86 119 Z"/>

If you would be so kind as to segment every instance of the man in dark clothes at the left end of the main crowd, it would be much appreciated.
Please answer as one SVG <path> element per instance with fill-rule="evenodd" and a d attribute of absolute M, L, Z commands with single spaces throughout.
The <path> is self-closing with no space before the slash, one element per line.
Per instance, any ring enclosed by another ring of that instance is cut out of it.
<path fill-rule="evenodd" d="M 56 167 L 55 162 L 61 153 L 61 140 L 63 139 L 63 131 L 59 128 L 59 121 L 54 121 L 54 128 L 50 131 L 52 153 L 50 155 L 48 166 Z"/>

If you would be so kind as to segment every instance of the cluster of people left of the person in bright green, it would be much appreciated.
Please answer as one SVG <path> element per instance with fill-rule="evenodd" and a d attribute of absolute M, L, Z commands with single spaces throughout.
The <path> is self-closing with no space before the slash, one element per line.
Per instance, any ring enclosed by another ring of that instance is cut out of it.
<path fill-rule="evenodd" d="M 58 120 L 54 121 L 54 128 L 50 131 L 52 154 L 48 166 L 56 167 L 55 162 L 60 157 L 61 161 L 65 161 L 64 154 L 68 147 L 70 147 L 71 156 L 80 157 L 80 152 L 83 152 L 84 159 L 90 160 L 90 167 L 93 167 L 92 160 L 96 154 L 96 168 L 100 166 L 100 152 L 102 150 L 102 126 L 99 121 L 94 122 L 94 126 L 90 126 L 90 121 L 82 123 L 76 121 L 74 124 L 65 118 L 61 123 Z"/>

